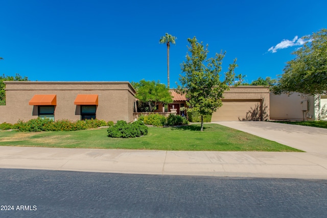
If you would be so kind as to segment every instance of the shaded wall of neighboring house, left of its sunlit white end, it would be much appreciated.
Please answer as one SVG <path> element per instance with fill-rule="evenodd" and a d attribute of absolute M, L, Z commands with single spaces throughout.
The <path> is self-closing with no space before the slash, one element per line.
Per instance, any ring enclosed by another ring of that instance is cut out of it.
<path fill-rule="evenodd" d="M 270 119 L 314 120 L 316 116 L 314 96 L 294 92 L 275 95 L 270 93 Z"/>

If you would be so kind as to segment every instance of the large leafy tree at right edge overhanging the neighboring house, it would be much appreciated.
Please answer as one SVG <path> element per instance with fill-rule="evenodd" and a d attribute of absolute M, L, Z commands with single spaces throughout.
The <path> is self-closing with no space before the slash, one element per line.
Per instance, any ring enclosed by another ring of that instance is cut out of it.
<path fill-rule="evenodd" d="M 292 54 L 296 57 L 287 62 L 284 74 L 272 87 L 275 94 L 300 92 L 323 94 L 327 91 L 327 29 L 312 36 L 303 37 L 307 42 Z"/>

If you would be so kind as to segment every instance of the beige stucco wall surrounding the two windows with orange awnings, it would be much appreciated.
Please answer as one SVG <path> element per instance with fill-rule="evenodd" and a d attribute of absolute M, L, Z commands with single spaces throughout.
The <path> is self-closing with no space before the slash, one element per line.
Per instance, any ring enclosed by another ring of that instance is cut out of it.
<path fill-rule="evenodd" d="M 38 106 L 29 105 L 35 94 L 55 94 L 55 120 L 81 119 L 78 94 L 97 94 L 96 118 L 106 121 L 133 121 L 135 90 L 129 82 L 31 82 L 7 81 L 6 105 L 0 106 L 0 123 L 16 123 L 18 119 L 38 117 Z"/>

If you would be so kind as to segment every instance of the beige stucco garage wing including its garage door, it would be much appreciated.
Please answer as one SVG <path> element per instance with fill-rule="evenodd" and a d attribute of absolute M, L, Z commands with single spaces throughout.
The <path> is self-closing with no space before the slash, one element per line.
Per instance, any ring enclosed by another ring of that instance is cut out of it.
<path fill-rule="evenodd" d="M 230 87 L 225 91 L 222 107 L 212 121 L 248 121 L 269 119 L 269 88 L 265 86 Z"/>

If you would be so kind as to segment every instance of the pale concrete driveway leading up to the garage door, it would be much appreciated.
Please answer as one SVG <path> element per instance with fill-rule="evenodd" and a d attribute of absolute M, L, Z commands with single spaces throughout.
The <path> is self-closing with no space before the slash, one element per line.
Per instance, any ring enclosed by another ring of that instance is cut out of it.
<path fill-rule="evenodd" d="M 212 122 L 305 152 L 327 155 L 327 129 L 272 122 Z"/>

